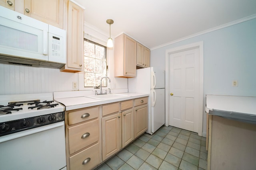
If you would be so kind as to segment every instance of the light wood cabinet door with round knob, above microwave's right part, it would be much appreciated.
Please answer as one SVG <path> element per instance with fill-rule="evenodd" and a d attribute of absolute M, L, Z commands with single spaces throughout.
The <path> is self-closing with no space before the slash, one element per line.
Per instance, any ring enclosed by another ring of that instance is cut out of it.
<path fill-rule="evenodd" d="M 64 0 L 24 0 L 24 14 L 63 29 Z"/>

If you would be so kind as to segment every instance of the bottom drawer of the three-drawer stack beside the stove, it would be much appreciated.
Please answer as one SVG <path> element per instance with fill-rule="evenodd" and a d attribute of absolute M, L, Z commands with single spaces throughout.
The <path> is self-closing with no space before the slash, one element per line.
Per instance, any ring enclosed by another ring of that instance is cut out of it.
<path fill-rule="evenodd" d="M 87 163 L 83 162 L 87 159 Z M 90 161 L 88 161 L 90 160 Z M 69 158 L 70 170 L 90 170 L 100 163 L 99 143 Z"/>

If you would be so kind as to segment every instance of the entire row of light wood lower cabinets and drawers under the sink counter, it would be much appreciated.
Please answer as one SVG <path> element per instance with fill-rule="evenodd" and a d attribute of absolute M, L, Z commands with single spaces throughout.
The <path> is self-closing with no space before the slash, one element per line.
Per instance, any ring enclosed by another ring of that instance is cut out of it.
<path fill-rule="evenodd" d="M 91 170 L 148 128 L 148 97 L 65 111 L 67 170 Z"/>

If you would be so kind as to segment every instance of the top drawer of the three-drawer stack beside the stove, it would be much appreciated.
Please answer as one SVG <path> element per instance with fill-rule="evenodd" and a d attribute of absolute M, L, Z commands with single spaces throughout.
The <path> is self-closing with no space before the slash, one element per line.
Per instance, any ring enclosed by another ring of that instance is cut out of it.
<path fill-rule="evenodd" d="M 68 113 L 68 125 L 73 125 L 82 121 L 94 119 L 99 115 L 99 107 L 89 107 L 82 110 Z"/>

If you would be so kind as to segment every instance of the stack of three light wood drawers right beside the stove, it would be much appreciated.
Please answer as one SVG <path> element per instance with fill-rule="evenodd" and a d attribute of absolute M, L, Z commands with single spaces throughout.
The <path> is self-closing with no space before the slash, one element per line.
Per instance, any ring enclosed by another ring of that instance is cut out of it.
<path fill-rule="evenodd" d="M 67 170 L 90 170 L 100 164 L 99 106 L 65 111 Z"/>

